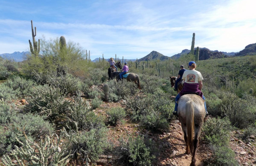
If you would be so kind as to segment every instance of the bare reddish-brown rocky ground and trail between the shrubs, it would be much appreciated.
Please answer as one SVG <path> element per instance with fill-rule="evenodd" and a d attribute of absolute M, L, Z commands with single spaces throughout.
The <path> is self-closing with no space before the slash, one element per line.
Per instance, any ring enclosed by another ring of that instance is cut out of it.
<path fill-rule="evenodd" d="M 108 117 L 106 111 L 112 107 L 122 107 L 124 100 L 120 102 L 103 102 L 101 106 L 94 110 L 95 114 Z M 21 108 L 27 104 L 23 99 L 15 103 L 16 109 Z M 191 162 L 191 155 L 185 154 L 186 144 L 184 142 L 184 134 L 181 129 L 179 120 L 172 120 L 170 122 L 170 128 L 168 131 L 161 133 L 152 133 L 143 129 L 139 124 L 135 124 L 130 121 L 127 116 L 124 122 L 119 122 L 116 126 L 108 126 L 109 141 L 114 146 L 119 145 L 119 139 L 123 138 L 127 140 L 130 135 L 136 136 L 143 134 L 144 137 L 151 139 L 153 147 L 155 149 L 156 159 L 153 162 L 155 166 L 189 166 Z M 202 133 L 203 134 L 203 133 Z M 236 159 L 240 165 L 256 166 L 256 140 L 255 136 L 251 136 L 248 142 L 244 142 L 239 139 L 241 131 L 233 131 L 230 133 L 230 147 L 236 153 Z M 196 154 L 196 164 L 199 166 L 207 165 L 206 160 L 211 157 L 212 151 L 209 149 L 207 143 L 202 139 L 199 140 L 199 147 Z M 120 165 L 115 163 L 116 156 L 108 153 L 107 155 L 101 155 L 100 159 L 91 165 Z M 70 160 L 67 165 L 78 166 L 81 165 L 78 161 Z"/>

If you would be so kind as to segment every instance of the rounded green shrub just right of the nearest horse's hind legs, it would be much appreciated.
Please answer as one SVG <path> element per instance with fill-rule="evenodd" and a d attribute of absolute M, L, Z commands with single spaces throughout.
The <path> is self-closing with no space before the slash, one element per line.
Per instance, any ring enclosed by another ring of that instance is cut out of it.
<path fill-rule="evenodd" d="M 204 139 L 209 143 L 217 146 L 228 145 L 228 131 L 231 129 L 230 122 L 227 118 L 209 118 L 204 123 L 202 132 Z"/>

